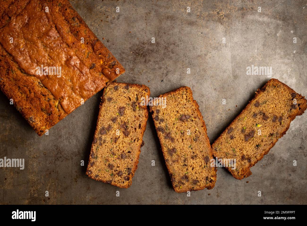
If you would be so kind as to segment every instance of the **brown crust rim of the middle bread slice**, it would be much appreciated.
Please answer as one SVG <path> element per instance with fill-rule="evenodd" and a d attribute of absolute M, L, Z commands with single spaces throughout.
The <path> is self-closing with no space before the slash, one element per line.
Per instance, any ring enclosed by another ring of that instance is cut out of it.
<path fill-rule="evenodd" d="M 182 91 L 188 92 L 189 96 L 192 98 L 192 103 L 193 103 L 192 105 L 194 105 L 194 107 L 195 107 L 194 110 L 196 111 L 196 114 L 198 116 L 197 118 L 200 119 L 201 128 L 203 129 L 203 132 L 204 132 L 205 146 L 206 146 L 206 148 L 209 151 L 210 159 L 212 159 L 213 155 L 212 155 L 212 151 L 211 151 L 210 141 L 209 141 L 209 138 L 208 138 L 208 135 L 207 135 L 207 128 L 206 128 L 203 116 L 201 115 L 201 112 L 199 110 L 199 105 L 197 104 L 196 100 L 193 99 L 193 94 L 192 94 L 191 88 L 189 88 L 187 86 L 180 87 L 180 88 L 177 88 L 177 89 L 175 89 L 173 91 L 165 93 L 163 95 L 159 95 L 158 97 L 159 98 L 161 98 L 161 97 L 166 97 L 167 98 L 167 97 L 172 96 L 172 95 L 178 96 L 179 93 L 181 93 Z M 168 164 L 168 157 L 169 157 L 169 155 L 167 154 L 168 150 L 165 147 L 165 144 L 163 142 L 165 140 L 165 137 L 164 137 L 164 135 L 162 133 L 159 132 L 159 129 L 158 129 L 161 126 L 161 124 L 160 124 L 160 120 L 156 119 L 156 117 L 158 116 L 158 114 L 156 113 L 156 110 L 157 110 L 157 106 L 150 106 L 150 112 L 152 113 L 153 121 L 154 121 L 156 130 L 157 130 L 157 135 L 158 135 L 158 138 L 159 138 L 159 141 L 160 141 L 160 144 L 161 144 L 162 153 L 163 153 L 163 156 L 165 158 L 166 167 L 167 167 L 167 169 L 169 171 L 169 175 L 171 177 L 171 181 L 172 181 L 172 184 L 173 184 L 173 189 L 177 193 L 187 192 L 187 191 L 191 191 L 191 190 L 197 191 L 197 190 L 202 190 L 204 188 L 212 189 L 214 187 L 214 185 L 215 185 L 215 182 L 216 182 L 216 171 L 217 171 L 216 167 L 213 167 L 212 170 L 211 170 L 211 173 L 213 174 L 213 177 L 210 178 L 210 180 L 212 180 L 211 183 L 207 184 L 206 183 L 207 182 L 206 179 L 202 178 L 202 179 L 199 179 L 200 183 L 198 183 L 198 184 L 201 184 L 201 185 L 197 184 L 197 185 L 189 186 L 188 188 L 187 187 L 181 188 L 181 187 L 178 187 L 176 185 L 174 177 L 176 177 L 176 180 L 177 180 L 178 176 L 174 176 L 173 175 L 173 173 L 174 173 L 173 169 L 171 169 L 171 165 Z M 202 161 L 202 159 L 200 159 L 199 157 L 197 157 L 197 158 L 198 158 L 198 160 Z M 174 164 L 176 164 L 176 163 L 174 163 Z M 210 176 L 210 175 L 208 175 L 208 176 Z"/>

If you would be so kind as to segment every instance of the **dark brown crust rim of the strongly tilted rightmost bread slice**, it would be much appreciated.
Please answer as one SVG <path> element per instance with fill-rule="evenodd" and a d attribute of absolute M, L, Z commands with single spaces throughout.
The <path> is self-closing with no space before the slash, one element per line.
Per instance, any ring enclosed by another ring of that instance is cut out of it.
<path fill-rule="evenodd" d="M 295 119 L 296 116 L 302 115 L 307 108 L 307 100 L 305 99 L 304 96 L 301 96 L 300 94 L 296 93 L 293 89 L 288 87 L 286 84 L 278 81 L 277 79 L 270 79 L 261 89 L 258 89 L 257 92 L 255 92 L 256 93 L 255 97 L 247 104 L 247 106 L 243 109 L 243 111 L 230 123 L 230 125 L 225 129 L 225 131 L 223 131 L 223 133 L 219 136 L 219 138 L 217 138 L 216 141 L 212 144 L 213 155 L 216 158 L 223 158 L 222 153 L 228 151 L 226 149 L 223 150 L 223 144 L 222 144 L 223 139 L 229 135 L 227 134 L 227 131 L 229 131 L 231 128 L 234 129 L 237 125 L 237 122 L 240 121 L 242 118 L 244 118 L 244 116 L 248 115 L 248 112 L 250 111 L 252 104 L 255 105 L 255 103 L 257 102 L 256 100 L 259 98 L 259 96 L 264 94 L 264 92 L 266 92 L 266 89 L 270 86 L 280 86 L 286 93 L 285 95 L 294 94 L 295 98 L 297 99 L 298 107 L 293 109 L 293 113 L 291 111 L 291 113 L 288 115 L 289 117 L 286 120 L 280 122 L 283 124 L 286 123 L 284 129 L 282 131 L 278 131 L 278 133 L 273 133 L 276 135 L 276 138 L 271 140 L 271 142 L 265 147 L 262 153 L 257 154 L 255 161 L 251 161 L 247 167 L 243 167 L 241 169 L 240 174 L 234 170 L 231 170 L 229 167 L 226 167 L 227 170 L 229 170 L 232 176 L 235 177 L 236 179 L 242 180 L 245 177 L 249 177 L 252 174 L 250 168 L 254 166 L 258 161 L 260 161 L 263 158 L 263 156 L 270 151 L 270 149 L 275 145 L 278 139 L 281 138 L 284 134 L 286 134 L 287 130 L 290 127 L 291 121 Z M 284 111 L 286 111 L 286 108 L 284 109 Z"/>

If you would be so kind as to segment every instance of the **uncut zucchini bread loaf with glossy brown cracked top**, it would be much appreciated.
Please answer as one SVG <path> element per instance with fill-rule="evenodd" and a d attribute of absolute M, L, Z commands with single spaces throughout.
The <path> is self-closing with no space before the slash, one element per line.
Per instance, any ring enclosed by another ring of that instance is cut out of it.
<path fill-rule="evenodd" d="M 0 0 L 0 89 L 37 134 L 125 69 L 67 0 Z"/>

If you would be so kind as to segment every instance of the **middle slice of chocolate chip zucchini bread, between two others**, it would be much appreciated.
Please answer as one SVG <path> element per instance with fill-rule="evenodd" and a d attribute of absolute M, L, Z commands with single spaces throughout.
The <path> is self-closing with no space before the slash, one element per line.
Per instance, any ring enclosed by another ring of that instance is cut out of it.
<path fill-rule="evenodd" d="M 212 189 L 216 168 L 210 166 L 207 128 L 191 89 L 180 87 L 158 98 L 162 97 L 166 105 L 153 101 L 150 111 L 174 190 Z"/>

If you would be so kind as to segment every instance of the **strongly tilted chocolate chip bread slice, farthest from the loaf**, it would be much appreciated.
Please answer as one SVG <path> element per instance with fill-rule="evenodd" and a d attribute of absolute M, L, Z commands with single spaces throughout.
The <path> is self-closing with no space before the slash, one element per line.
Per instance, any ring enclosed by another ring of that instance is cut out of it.
<path fill-rule="evenodd" d="M 244 110 L 212 145 L 219 159 L 236 159 L 226 167 L 236 179 L 251 175 L 254 166 L 289 129 L 297 115 L 306 110 L 306 99 L 277 79 L 258 89 Z"/>

